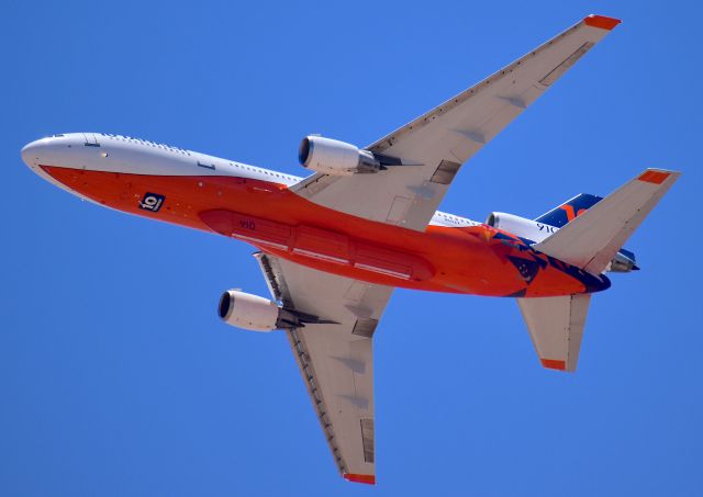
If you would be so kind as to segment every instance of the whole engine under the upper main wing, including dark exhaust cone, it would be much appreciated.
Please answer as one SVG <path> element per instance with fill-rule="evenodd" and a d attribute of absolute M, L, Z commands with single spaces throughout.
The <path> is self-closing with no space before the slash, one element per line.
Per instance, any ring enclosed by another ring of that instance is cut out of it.
<path fill-rule="evenodd" d="M 362 150 L 355 145 L 322 136 L 306 136 L 298 153 L 300 165 L 334 176 L 373 173 L 388 166 L 402 166 L 395 157 Z"/>

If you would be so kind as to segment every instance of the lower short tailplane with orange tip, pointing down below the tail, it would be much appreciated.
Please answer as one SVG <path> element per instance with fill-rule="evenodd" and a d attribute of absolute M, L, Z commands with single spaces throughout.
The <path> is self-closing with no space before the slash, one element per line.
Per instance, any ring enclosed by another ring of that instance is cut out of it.
<path fill-rule="evenodd" d="M 517 298 L 543 366 L 576 371 L 590 302 L 590 294 Z"/>

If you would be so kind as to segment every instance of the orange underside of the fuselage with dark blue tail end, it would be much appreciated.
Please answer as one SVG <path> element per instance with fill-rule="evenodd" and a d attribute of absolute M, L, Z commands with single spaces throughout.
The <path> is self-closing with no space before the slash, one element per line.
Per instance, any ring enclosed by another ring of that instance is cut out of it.
<path fill-rule="evenodd" d="M 249 178 L 43 169 L 100 204 L 234 237 L 300 264 L 370 283 L 493 296 L 606 287 L 604 276 L 582 274 L 487 225 L 429 225 L 422 233 L 334 211 L 286 185 Z M 164 199 L 158 212 L 142 207 L 147 193 Z"/>

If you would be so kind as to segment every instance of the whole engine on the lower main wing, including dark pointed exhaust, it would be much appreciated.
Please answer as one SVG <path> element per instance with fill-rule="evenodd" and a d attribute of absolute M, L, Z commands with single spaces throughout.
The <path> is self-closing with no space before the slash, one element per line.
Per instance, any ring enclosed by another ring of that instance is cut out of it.
<path fill-rule="evenodd" d="M 334 324 L 238 290 L 227 290 L 222 294 L 217 314 L 227 325 L 253 331 L 302 328 L 305 324 Z"/>

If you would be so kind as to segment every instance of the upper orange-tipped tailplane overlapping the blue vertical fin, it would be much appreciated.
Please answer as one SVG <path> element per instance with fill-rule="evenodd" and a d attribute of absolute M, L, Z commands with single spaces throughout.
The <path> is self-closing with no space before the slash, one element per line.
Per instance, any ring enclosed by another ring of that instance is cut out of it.
<path fill-rule="evenodd" d="M 600 274 L 679 176 L 647 169 L 533 248 Z"/>

